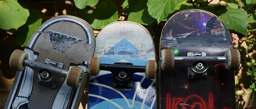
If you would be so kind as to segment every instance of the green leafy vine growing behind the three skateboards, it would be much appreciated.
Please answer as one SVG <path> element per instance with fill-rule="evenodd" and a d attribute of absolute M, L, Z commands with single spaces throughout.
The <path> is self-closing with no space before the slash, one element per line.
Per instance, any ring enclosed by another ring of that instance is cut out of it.
<path fill-rule="evenodd" d="M 42 3 L 59 4 L 62 0 L 0 0 L 0 29 L 16 36 L 16 44 L 26 46 L 33 32 L 45 22 L 44 16 L 37 9 L 27 8 L 27 5 Z M 251 52 L 256 44 L 256 0 L 66 0 L 72 5 L 74 12 L 69 15 L 78 16 L 94 30 L 100 30 L 106 25 L 117 22 L 120 16 L 125 20 L 142 24 L 154 37 L 153 27 L 164 24 L 174 13 L 184 9 L 203 9 L 214 13 L 223 21 L 230 33 L 239 33 L 241 41 L 248 44 L 246 53 Z M 224 4 L 222 4 L 224 2 Z M 56 16 L 56 15 L 54 15 Z M 237 43 L 237 42 L 234 42 Z M 240 51 L 240 47 L 236 47 Z M 253 55 L 246 61 L 247 75 L 251 85 L 247 89 L 252 94 L 250 105 L 256 92 L 256 62 Z M 240 94 L 238 94 L 240 95 Z"/>

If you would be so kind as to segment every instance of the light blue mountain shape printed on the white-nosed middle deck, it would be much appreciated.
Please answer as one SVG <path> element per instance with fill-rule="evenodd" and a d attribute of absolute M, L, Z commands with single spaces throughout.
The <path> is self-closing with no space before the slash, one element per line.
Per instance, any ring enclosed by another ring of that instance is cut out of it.
<path fill-rule="evenodd" d="M 135 56 L 138 50 L 127 39 L 123 39 L 110 48 L 104 55 L 129 55 Z"/>

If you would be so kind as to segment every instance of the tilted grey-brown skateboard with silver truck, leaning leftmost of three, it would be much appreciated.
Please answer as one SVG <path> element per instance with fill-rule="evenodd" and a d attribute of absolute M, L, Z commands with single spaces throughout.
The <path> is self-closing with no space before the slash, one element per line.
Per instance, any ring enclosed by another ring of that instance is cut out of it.
<path fill-rule="evenodd" d="M 78 109 L 94 50 L 93 29 L 83 19 L 47 20 L 24 51 L 11 55 L 10 67 L 18 72 L 4 109 Z"/>

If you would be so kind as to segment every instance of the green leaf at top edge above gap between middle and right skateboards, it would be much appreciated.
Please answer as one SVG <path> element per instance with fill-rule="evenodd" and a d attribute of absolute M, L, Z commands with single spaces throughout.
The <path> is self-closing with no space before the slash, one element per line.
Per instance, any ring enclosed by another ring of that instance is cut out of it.
<path fill-rule="evenodd" d="M 187 0 L 148 0 L 148 13 L 153 18 L 157 19 L 157 23 L 165 19 L 170 13 L 174 12 L 178 3 Z"/>

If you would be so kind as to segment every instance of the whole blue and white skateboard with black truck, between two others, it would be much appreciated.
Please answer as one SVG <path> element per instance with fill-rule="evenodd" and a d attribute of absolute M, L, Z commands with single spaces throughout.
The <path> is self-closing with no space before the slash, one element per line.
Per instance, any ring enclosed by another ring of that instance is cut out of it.
<path fill-rule="evenodd" d="M 118 21 L 104 27 L 88 69 L 88 109 L 155 109 L 155 47 L 142 25 Z"/>

